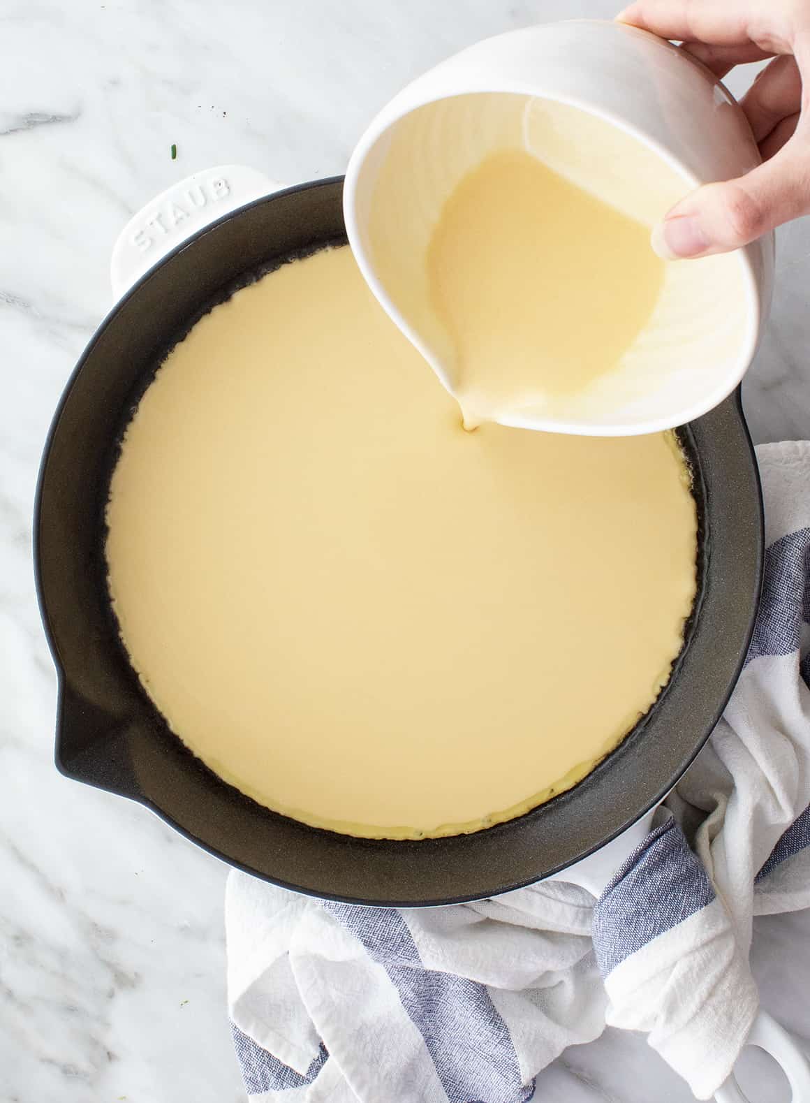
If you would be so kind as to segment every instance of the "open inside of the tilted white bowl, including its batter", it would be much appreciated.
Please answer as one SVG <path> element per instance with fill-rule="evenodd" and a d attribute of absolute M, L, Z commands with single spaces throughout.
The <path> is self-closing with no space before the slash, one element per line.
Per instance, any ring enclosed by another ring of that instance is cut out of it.
<path fill-rule="evenodd" d="M 471 425 L 634 433 L 720 400 L 752 340 L 742 254 L 666 264 L 650 247 L 693 186 L 571 105 L 451 96 L 368 151 L 352 236 Z"/>

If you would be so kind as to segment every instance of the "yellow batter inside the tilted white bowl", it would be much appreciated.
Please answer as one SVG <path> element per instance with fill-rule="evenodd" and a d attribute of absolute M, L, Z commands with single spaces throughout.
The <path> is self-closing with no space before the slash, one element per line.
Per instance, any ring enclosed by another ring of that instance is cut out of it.
<path fill-rule="evenodd" d="M 465 422 L 499 420 L 615 371 L 663 283 L 649 229 L 520 149 L 493 153 L 444 205 L 430 295 Z"/>

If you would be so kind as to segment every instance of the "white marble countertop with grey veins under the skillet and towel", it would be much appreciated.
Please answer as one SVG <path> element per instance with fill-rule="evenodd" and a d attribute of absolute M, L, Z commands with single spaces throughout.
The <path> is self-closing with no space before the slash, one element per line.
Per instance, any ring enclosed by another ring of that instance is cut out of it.
<path fill-rule="evenodd" d="M 371 113 L 443 55 L 534 20 L 613 9 L 0 4 L 0 1103 L 244 1099 L 224 1005 L 225 868 L 52 764 L 54 675 L 33 590 L 31 505 L 51 414 L 110 304 L 118 229 L 206 165 L 246 163 L 289 181 L 341 172 Z M 780 237 L 774 320 L 746 385 L 757 440 L 810 436 L 809 289 L 810 229 L 797 224 Z M 754 964 L 765 1006 L 810 1036 L 810 913 L 759 921 Z M 765 1059 L 746 1063 L 753 1097 L 778 1103 Z M 536 1097 L 690 1096 L 642 1038 L 608 1031 L 548 1069 Z"/>

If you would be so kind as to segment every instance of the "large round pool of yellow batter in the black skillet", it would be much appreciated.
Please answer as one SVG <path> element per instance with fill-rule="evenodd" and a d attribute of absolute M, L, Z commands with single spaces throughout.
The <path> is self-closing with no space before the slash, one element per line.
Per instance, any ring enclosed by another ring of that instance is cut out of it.
<path fill-rule="evenodd" d="M 655 700 L 695 592 L 671 436 L 465 432 L 348 248 L 173 350 L 107 516 L 122 638 L 172 729 L 269 807 L 370 837 L 574 784 Z"/>

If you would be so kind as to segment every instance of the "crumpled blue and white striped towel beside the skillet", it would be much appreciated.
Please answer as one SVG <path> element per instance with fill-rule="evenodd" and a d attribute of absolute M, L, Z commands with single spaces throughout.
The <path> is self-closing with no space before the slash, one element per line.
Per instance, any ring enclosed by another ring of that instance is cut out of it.
<path fill-rule="evenodd" d="M 726 1079 L 757 1006 L 752 918 L 810 906 L 810 443 L 757 454 L 767 556 L 747 665 L 595 904 L 547 881 L 353 908 L 231 872 L 229 1009 L 252 1100 L 522 1103 L 605 1022 L 647 1031 L 699 1099 Z"/>

